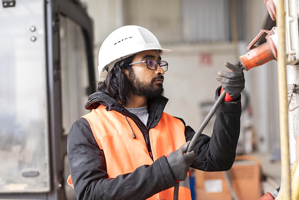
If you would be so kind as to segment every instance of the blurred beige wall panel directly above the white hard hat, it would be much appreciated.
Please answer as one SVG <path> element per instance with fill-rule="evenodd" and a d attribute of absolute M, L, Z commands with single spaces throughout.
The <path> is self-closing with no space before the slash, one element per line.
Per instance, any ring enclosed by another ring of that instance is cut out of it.
<path fill-rule="evenodd" d="M 125 25 L 147 28 L 160 43 L 180 42 L 181 0 L 125 0 Z"/>

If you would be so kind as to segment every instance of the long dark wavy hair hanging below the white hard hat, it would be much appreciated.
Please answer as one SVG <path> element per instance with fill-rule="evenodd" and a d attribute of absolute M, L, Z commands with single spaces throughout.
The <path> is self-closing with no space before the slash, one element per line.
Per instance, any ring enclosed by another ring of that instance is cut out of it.
<path fill-rule="evenodd" d="M 107 78 L 103 82 L 98 83 L 97 90 L 111 96 L 115 100 L 119 100 L 122 105 L 130 102 L 129 91 L 132 84 L 126 77 L 122 69 L 131 69 L 129 65 L 135 55 L 127 57 L 114 64 L 113 68 L 108 72 Z"/>

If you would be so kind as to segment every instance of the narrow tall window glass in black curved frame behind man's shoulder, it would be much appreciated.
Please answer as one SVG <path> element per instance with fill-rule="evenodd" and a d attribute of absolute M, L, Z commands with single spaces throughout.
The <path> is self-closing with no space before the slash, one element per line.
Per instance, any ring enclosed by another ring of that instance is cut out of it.
<path fill-rule="evenodd" d="M 88 65 L 82 29 L 71 19 L 60 17 L 60 56 L 63 134 L 89 112 L 84 108 L 87 94 Z"/>

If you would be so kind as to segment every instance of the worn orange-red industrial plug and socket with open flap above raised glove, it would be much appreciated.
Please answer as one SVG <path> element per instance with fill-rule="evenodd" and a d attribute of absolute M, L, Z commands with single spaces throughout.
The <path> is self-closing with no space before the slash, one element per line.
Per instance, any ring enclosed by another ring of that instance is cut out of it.
<path fill-rule="evenodd" d="M 257 47 L 254 46 L 264 33 L 267 34 L 267 42 Z M 248 71 L 253 67 L 261 66 L 271 60 L 277 60 L 277 45 L 277 27 L 273 27 L 271 31 L 261 29 L 257 37 L 255 37 L 247 47 L 247 50 L 251 49 L 251 51 L 239 57 L 245 67 L 245 70 Z"/>

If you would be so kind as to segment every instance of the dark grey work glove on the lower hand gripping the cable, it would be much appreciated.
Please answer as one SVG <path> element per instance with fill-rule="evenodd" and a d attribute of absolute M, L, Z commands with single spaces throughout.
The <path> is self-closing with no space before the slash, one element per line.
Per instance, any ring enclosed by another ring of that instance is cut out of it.
<path fill-rule="evenodd" d="M 189 172 L 189 167 L 195 159 L 194 151 L 185 153 L 189 143 L 190 141 L 186 142 L 178 150 L 171 152 L 169 156 L 167 156 L 167 162 L 176 181 L 185 180 L 187 172 Z"/>

